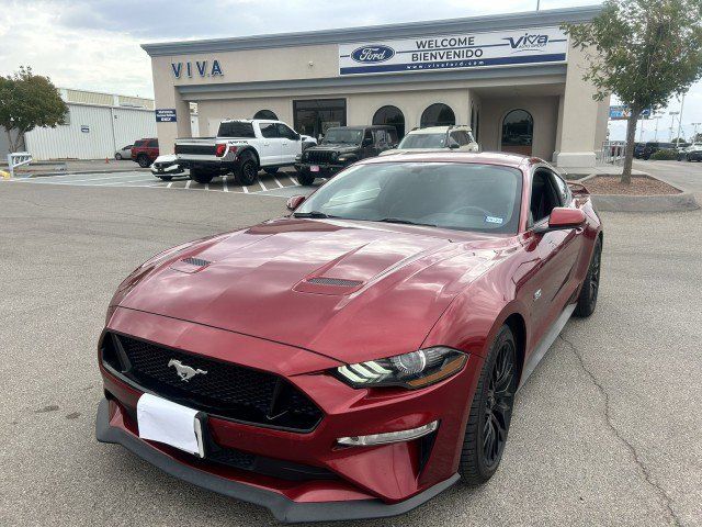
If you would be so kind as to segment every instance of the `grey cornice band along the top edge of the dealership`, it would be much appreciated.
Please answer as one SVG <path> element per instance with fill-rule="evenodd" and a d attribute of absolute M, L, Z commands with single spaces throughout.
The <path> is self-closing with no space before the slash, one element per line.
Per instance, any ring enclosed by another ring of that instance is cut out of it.
<path fill-rule="evenodd" d="M 551 9 L 545 11 L 468 16 L 463 19 L 374 25 L 369 27 L 276 33 L 272 35 L 237 36 L 233 38 L 214 38 L 205 41 L 162 42 L 141 44 L 141 48 L 148 53 L 149 56 L 157 57 L 163 55 L 342 44 L 359 41 L 387 41 L 390 38 L 450 35 L 454 33 L 476 31 L 517 30 L 531 26 L 559 25 L 564 22 L 589 22 L 600 13 L 601 9 L 601 5 L 587 5 L 578 8 Z"/>

